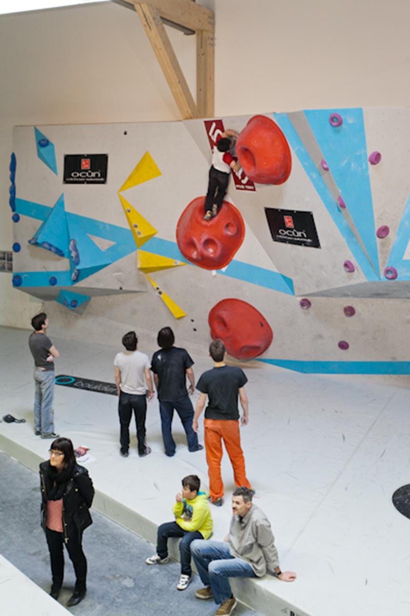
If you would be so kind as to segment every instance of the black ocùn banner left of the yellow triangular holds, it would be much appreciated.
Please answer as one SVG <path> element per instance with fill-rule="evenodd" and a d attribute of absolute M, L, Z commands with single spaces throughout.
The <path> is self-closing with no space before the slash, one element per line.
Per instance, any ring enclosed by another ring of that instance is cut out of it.
<path fill-rule="evenodd" d="M 105 184 L 108 154 L 65 154 L 64 184 Z"/>

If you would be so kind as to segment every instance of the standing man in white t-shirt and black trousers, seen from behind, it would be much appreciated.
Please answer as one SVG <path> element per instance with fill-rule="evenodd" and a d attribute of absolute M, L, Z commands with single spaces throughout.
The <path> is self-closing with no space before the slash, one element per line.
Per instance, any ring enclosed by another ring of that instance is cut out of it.
<path fill-rule="evenodd" d="M 151 453 L 151 447 L 145 443 L 145 418 L 147 399 L 154 397 L 148 355 L 136 350 L 138 338 L 135 331 L 128 331 L 122 336 L 125 351 L 117 353 L 114 359 L 116 385 L 119 395 L 118 414 L 120 418 L 120 454 L 127 458 L 130 447 L 130 422 L 132 411 L 135 413 L 138 455 Z M 147 395 L 148 388 L 148 395 Z"/>

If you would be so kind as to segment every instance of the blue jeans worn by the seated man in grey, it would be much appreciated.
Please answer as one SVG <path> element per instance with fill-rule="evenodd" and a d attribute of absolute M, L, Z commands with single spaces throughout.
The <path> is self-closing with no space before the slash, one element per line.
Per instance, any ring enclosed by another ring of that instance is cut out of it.
<path fill-rule="evenodd" d="M 256 577 L 248 562 L 231 556 L 227 541 L 192 541 L 191 553 L 202 583 L 211 587 L 217 604 L 232 596 L 228 578 Z"/>

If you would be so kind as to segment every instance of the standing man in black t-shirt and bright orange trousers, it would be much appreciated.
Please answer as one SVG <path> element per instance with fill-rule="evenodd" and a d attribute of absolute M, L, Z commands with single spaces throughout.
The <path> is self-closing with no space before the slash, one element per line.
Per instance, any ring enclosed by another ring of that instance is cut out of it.
<path fill-rule="evenodd" d="M 205 451 L 207 452 L 210 500 L 213 505 L 223 504 L 224 484 L 221 477 L 222 441 L 234 469 L 235 485 L 251 485 L 246 479 L 245 460 L 240 446 L 238 394 L 243 415 L 242 426 L 249 420 L 248 398 L 244 389 L 248 379 L 242 368 L 227 366 L 224 362 L 226 349 L 222 340 L 211 342 L 209 353 L 213 359 L 212 370 L 200 376 L 197 389 L 200 396 L 195 408 L 192 428 L 198 431 L 198 419 L 208 396 L 205 410 Z"/>

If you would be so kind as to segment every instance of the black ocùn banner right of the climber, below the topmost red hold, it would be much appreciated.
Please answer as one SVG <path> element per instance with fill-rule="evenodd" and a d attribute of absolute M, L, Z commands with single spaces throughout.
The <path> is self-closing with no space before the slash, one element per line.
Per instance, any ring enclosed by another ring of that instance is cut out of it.
<path fill-rule="evenodd" d="M 265 214 L 272 240 L 320 248 L 312 212 L 265 208 Z"/>

